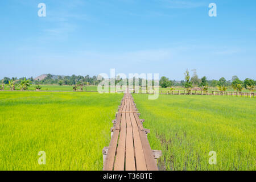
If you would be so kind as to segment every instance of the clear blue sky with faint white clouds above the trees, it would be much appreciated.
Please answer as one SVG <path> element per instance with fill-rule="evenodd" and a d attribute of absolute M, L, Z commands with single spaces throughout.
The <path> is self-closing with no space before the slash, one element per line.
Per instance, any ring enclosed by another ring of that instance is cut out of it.
<path fill-rule="evenodd" d="M 211 2 L 217 17 L 208 15 Z M 0 78 L 110 68 L 175 80 L 187 68 L 208 79 L 256 78 L 254 0 L 2 0 L 0 15 Z"/>

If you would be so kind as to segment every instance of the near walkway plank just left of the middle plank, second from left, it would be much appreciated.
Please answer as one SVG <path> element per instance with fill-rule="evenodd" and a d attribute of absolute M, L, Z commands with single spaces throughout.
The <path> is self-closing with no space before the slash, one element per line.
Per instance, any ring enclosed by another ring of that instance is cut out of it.
<path fill-rule="evenodd" d="M 124 107 L 127 108 L 127 105 Z M 123 171 L 125 169 L 125 145 L 126 145 L 126 117 L 121 116 L 121 129 L 117 146 L 117 155 L 115 156 L 114 171 Z"/>

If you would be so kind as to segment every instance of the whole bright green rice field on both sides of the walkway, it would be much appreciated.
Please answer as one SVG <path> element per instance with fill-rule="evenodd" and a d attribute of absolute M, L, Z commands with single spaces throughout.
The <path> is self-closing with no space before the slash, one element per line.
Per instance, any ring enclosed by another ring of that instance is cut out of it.
<path fill-rule="evenodd" d="M 160 170 L 255 170 L 256 100 L 133 94 Z M 101 170 L 123 94 L 0 92 L 1 170 Z M 46 165 L 39 165 L 39 151 Z M 217 164 L 210 165 L 209 152 Z"/>

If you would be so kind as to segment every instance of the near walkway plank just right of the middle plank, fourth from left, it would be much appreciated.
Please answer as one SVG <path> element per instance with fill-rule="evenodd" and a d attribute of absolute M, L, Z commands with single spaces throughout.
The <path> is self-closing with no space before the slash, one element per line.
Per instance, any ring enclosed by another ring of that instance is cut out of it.
<path fill-rule="evenodd" d="M 134 114 L 130 113 L 131 125 L 133 127 L 133 140 L 134 140 L 134 150 L 135 150 L 135 160 L 137 171 L 146 171 L 146 161 L 143 152 L 143 147 L 141 143 L 141 138 L 139 136 L 139 128 L 135 121 Z"/>

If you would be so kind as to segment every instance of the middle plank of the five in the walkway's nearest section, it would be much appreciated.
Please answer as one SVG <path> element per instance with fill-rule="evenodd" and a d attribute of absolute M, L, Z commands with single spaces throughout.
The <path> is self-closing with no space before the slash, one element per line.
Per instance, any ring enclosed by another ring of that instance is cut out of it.
<path fill-rule="evenodd" d="M 125 170 L 135 171 L 135 159 L 134 159 L 134 145 L 133 145 L 133 128 L 131 126 L 131 119 L 128 113 L 126 113 L 126 150 L 125 150 Z"/>

